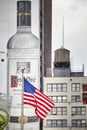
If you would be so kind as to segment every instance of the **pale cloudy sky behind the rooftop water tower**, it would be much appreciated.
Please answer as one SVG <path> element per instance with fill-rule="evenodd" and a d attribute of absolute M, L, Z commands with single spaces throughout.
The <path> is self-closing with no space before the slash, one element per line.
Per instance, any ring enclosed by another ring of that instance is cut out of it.
<path fill-rule="evenodd" d="M 53 0 L 53 51 L 62 46 L 64 16 L 64 47 L 70 50 L 71 67 L 87 75 L 87 0 Z"/>

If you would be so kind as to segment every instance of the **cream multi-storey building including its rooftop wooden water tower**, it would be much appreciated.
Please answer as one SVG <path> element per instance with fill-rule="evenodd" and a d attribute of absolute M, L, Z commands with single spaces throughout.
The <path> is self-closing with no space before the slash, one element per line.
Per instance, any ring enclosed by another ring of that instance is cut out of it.
<path fill-rule="evenodd" d="M 70 51 L 55 51 L 54 76 L 44 77 L 44 93 L 55 103 L 43 122 L 43 130 L 87 129 L 87 77 L 72 72 Z"/>

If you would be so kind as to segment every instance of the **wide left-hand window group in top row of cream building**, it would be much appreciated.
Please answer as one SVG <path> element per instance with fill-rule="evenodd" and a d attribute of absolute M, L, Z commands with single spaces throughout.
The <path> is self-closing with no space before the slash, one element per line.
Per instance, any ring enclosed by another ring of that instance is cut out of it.
<path fill-rule="evenodd" d="M 47 92 L 66 92 L 66 91 L 67 91 L 66 83 L 47 84 Z"/>

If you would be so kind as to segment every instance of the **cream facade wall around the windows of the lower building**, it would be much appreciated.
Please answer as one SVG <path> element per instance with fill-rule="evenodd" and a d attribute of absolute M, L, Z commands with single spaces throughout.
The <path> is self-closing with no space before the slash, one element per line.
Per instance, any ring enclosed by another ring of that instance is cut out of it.
<path fill-rule="evenodd" d="M 67 91 L 66 92 L 47 92 L 47 84 L 58 84 L 58 83 L 67 83 Z M 79 92 L 72 92 L 71 84 L 72 83 L 80 83 L 80 91 Z M 46 119 L 43 122 L 43 130 L 86 130 L 87 129 L 87 105 L 83 104 L 83 90 L 82 85 L 87 84 L 87 77 L 44 77 L 44 93 L 47 96 L 67 96 L 66 103 L 55 103 L 55 107 L 67 107 L 67 115 L 51 115 L 49 113 Z M 80 102 L 72 102 L 71 96 L 72 95 L 80 95 L 81 100 Z M 86 107 L 86 114 L 85 115 L 72 115 L 71 108 L 72 107 Z M 47 127 L 46 120 L 47 119 L 66 119 L 67 120 L 67 127 Z M 86 127 L 72 127 L 72 119 L 86 119 Z"/>

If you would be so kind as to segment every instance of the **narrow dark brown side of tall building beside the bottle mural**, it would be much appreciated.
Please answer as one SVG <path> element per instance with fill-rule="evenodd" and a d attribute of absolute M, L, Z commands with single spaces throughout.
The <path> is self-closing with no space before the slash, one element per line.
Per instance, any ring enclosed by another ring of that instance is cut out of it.
<path fill-rule="evenodd" d="M 52 0 L 40 0 L 41 75 L 45 76 L 51 68 L 51 35 Z"/>

